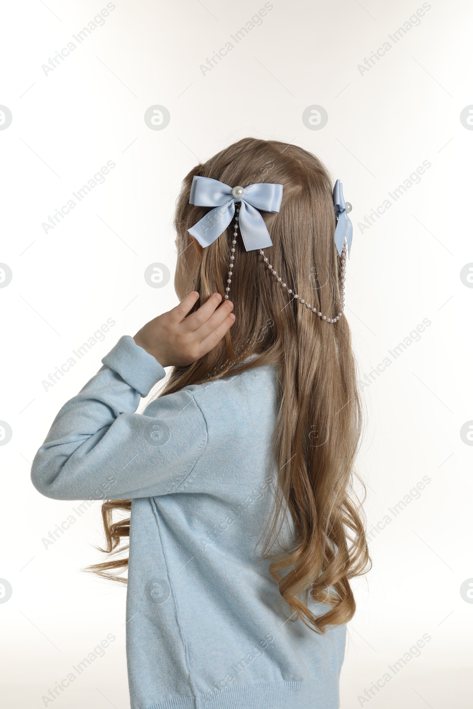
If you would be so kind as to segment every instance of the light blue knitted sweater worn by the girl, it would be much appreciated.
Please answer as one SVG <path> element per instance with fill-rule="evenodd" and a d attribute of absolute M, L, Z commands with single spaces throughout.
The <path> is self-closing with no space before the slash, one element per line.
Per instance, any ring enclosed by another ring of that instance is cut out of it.
<path fill-rule="evenodd" d="M 338 708 L 345 627 L 321 636 L 286 620 L 255 552 L 274 492 L 274 367 L 137 414 L 164 369 L 128 335 L 102 362 L 57 414 L 31 479 L 60 500 L 133 498 L 132 709 Z"/>

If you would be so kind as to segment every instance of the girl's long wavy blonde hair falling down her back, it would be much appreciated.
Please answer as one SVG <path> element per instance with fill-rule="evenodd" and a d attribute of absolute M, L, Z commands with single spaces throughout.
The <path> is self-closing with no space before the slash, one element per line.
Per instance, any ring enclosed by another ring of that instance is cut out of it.
<path fill-rule="evenodd" d="M 332 180 L 310 152 L 276 140 L 243 138 L 189 172 L 177 199 L 174 225 L 179 252 L 191 244 L 187 229 L 208 208 L 189 204 L 194 175 L 230 186 L 255 182 L 283 185 L 279 213 L 263 217 L 273 246 L 267 251 L 274 269 L 319 311 L 334 318 L 340 312 L 341 264 L 334 245 L 335 212 Z M 232 225 L 204 249 L 192 290 L 195 308 L 214 292 L 225 294 Z M 271 517 L 265 527 L 263 556 L 289 604 L 316 632 L 346 623 L 355 613 L 350 579 L 370 567 L 361 503 L 353 490 L 353 465 L 361 434 L 350 328 L 345 316 L 327 323 L 277 284 L 258 251 L 236 244 L 231 300 L 236 320 L 221 342 L 187 367 L 174 367 L 160 396 L 189 384 L 277 364 L 279 412 L 274 430 L 278 477 Z M 190 279 L 189 279 L 190 280 Z M 260 357 L 242 364 L 249 354 Z M 105 501 L 104 552 L 117 554 L 130 520 L 112 523 L 113 510 L 130 510 L 130 500 Z M 283 539 L 284 520 L 294 536 Z M 94 564 L 89 570 L 126 583 L 112 571 L 128 559 Z M 327 606 L 323 615 L 308 608 L 308 599 Z"/>

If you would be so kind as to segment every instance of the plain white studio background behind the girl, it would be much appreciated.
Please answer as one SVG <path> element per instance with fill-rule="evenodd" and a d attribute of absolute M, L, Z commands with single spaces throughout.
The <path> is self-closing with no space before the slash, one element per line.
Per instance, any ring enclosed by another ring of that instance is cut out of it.
<path fill-rule="evenodd" d="M 420 1 L 274 0 L 262 25 L 203 75 L 199 65 L 264 2 L 115 5 L 48 75 L 42 65 L 106 3 L 27 0 L 3 8 L 0 104 L 13 114 L 0 130 L 0 261 L 13 272 L 0 289 L 0 420 L 13 430 L 0 447 L 0 577 L 13 587 L 0 603 L 3 705 L 44 706 L 49 688 L 112 633 L 105 656 L 54 706 L 129 707 L 126 590 L 80 571 L 99 558 L 92 545 L 101 542 L 100 503 L 45 548 L 43 537 L 77 505 L 40 496 L 30 462 L 57 411 L 118 337 L 177 303 L 172 279 L 152 289 L 143 273 L 161 262 L 173 274 L 172 214 L 184 175 L 252 135 L 313 151 L 343 182 L 354 225 L 345 312 L 360 379 L 424 318 L 431 321 L 362 390 L 367 425 L 358 468 L 368 484 L 368 527 L 423 476 L 430 483 L 390 515 L 371 545 L 373 570 L 354 584 L 341 707 L 464 709 L 473 604 L 460 586 L 473 577 L 473 447 L 460 428 L 473 419 L 473 289 L 460 270 L 473 262 L 473 130 L 460 112 L 473 104 L 472 6 L 433 0 L 421 24 L 394 44 L 387 35 Z M 385 41 L 391 50 L 360 74 L 357 66 Z M 170 113 L 164 130 L 145 124 L 155 104 Z M 328 112 L 322 130 L 301 120 L 313 104 Z M 108 160 L 116 167 L 104 184 L 45 234 L 42 223 Z M 425 160 L 431 167 L 420 184 L 361 230 L 365 215 Z M 42 381 L 107 318 L 116 325 L 105 340 L 45 391 Z M 431 640 L 421 656 L 391 672 L 377 696 L 364 696 L 424 634 Z"/>

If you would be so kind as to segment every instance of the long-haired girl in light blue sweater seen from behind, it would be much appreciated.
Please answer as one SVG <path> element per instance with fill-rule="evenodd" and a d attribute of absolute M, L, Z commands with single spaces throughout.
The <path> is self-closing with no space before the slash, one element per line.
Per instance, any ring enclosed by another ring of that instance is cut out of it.
<path fill-rule="evenodd" d="M 33 484 L 114 498 L 133 709 L 335 709 L 369 566 L 341 186 L 300 147 L 245 138 L 189 172 L 175 227 L 180 304 L 62 407 Z"/>

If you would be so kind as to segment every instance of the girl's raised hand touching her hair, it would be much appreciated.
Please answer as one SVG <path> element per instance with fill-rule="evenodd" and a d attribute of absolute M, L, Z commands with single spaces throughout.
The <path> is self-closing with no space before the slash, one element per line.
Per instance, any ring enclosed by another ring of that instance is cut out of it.
<path fill-rule="evenodd" d="M 133 340 L 152 354 L 162 367 L 181 367 L 210 352 L 235 322 L 233 303 L 214 293 L 195 313 L 187 316 L 199 294 L 194 291 L 182 303 L 138 330 Z"/>

